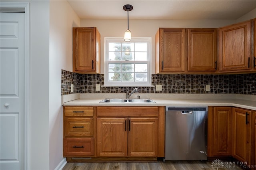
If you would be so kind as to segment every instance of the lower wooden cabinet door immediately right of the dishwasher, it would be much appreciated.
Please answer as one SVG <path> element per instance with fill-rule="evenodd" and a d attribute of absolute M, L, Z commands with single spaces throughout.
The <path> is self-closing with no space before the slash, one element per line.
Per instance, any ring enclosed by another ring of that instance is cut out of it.
<path fill-rule="evenodd" d="M 210 112 L 209 112 L 210 113 Z M 209 114 L 208 121 L 212 123 L 210 156 L 231 156 L 232 152 L 232 108 L 214 107 L 212 115 Z M 209 123 L 210 124 L 210 123 Z"/>

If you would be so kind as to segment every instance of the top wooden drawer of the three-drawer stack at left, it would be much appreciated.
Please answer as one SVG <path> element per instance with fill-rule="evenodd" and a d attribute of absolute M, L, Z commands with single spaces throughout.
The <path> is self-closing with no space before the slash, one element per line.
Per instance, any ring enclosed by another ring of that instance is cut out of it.
<path fill-rule="evenodd" d="M 93 116 L 94 108 L 93 107 L 63 107 L 64 116 Z"/>

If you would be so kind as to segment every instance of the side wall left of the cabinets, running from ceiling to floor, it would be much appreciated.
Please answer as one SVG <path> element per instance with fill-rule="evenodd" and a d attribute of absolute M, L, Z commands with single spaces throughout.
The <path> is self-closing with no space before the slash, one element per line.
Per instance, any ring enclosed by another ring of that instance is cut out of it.
<path fill-rule="evenodd" d="M 80 18 L 67 1 L 50 1 L 50 170 L 63 160 L 61 69 L 72 71 L 72 27 L 79 26 Z"/>

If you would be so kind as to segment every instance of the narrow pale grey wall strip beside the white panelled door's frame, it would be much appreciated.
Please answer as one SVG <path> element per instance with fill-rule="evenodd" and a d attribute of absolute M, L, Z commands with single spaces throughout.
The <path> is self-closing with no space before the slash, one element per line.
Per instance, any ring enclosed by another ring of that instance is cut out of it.
<path fill-rule="evenodd" d="M 30 2 L 28 168 L 49 169 L 49 1 Z"/>

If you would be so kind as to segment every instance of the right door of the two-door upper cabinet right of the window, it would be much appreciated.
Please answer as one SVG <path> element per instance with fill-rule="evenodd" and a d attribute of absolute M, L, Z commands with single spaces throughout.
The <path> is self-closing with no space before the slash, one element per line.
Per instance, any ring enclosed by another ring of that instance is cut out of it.
<path fill-rule="evenodd" d="M 216 53 L 216 29 L 188 29 L 188 71 L 216 71 Z"/>

